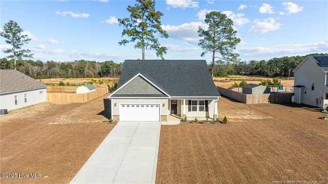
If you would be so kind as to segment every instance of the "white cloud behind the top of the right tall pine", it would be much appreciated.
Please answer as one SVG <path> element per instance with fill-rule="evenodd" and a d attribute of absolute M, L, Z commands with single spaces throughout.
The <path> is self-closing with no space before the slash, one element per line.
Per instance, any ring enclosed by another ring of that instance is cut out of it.
<path fill-rule="evenodd" d="M 204 21 L 206 18 L 206 14 L 210 13 L 211 11 L 216 11 L 216 10 L 208 10 L 208 9 L 203 9 L 197 12 L 198 19 L 200 21 Z M 245 18 L 245 14 L 243 13 L 234 13 L 232 11 L 222 11 L 221 13 L 224 13 L 227 15 L 228 18 L 232 19 L 234 22 L 234 25 L 241 26 L 246 23 L 249 23 L 250 20 L 248 18 Z"/>

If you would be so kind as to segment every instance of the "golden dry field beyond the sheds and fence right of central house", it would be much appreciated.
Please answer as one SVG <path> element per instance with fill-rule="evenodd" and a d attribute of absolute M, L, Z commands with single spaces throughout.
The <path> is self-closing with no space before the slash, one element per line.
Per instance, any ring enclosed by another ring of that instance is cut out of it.
<path fill-rule="evenodd" d="M 240 83 L 242 80 L 247 81 L 247 84 L 259 84 L 262 79 L 270 79 L 267 77 L 253 77 L 253 76 L 244 76 L 244 75 L 230 75 L 229 77 L 214 77 L 214 83 L 216 86 L 222 87 L 222 88 L 229 88 L 231 87 L 235 82 Z M 290 79 L 280 79 L 281 84 L 284 87 L 292 87 L 294 86 L 294 78 L 290 77 Z"/>

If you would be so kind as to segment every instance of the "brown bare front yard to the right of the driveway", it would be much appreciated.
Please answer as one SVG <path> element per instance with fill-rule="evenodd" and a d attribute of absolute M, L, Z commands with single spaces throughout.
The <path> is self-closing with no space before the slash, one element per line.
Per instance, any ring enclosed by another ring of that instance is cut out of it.
<path fill-rule="evenodd" d="M 228 124 L 161 127 L 156 183 L 328 182 L 328 121 L 317 109 L 222 97 L 218 110 Z"/>

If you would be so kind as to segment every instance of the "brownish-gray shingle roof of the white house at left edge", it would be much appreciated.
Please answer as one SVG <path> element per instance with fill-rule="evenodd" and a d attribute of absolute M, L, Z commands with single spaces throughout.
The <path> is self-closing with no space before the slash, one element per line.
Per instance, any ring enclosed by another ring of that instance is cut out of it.
<path fill-rule="evenodd" d="M 0 93 L 46 88 L 39 81 L 16 70 L 0 70 Z"/>

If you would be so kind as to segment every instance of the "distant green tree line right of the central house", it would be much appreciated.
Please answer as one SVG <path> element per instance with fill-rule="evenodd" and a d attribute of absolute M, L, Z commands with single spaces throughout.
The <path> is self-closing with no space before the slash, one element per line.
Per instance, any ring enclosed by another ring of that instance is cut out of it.
<path fill-rule="evenodd" d="M 304 56 L 274 57 L 269 60 L 250 60 L 228 62 L 215 65 L 214 76 L 228 75 L 257 75 L 264 77 L 293 77 L 293 70 L 309 55 L 328 55 L 327 53 L 315 53 Z"/>

